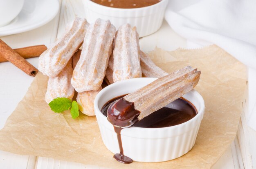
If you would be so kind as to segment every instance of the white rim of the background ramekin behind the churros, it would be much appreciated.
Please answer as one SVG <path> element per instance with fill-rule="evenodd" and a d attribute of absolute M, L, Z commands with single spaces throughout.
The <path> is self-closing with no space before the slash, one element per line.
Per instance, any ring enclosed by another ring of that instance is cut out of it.
<path fill-rule="evenodd" d="M 144 9 L 149 9 L 149 8 L 154 8 L 158 5 L 161 5 L 162 3 L 164 3 L 165 1 L 168 2 L 168 0 L 161 0 L 160 2 L 157 2 L 156 4 L 147 6 L 147 7 L 140 7 L 140 8 L 114 8 L 114 7 L 107 7 L 101 4 L 97 4 L 96 2 L 93 2 L 92 0 L 85 0 L 86 2 L 94 5 L 95 7 L 99 7 L 99 8 L 106 8 L 109 10 L 113 10 L 113 11 L 135 11 L 135 10 L 144 10 Z"/>

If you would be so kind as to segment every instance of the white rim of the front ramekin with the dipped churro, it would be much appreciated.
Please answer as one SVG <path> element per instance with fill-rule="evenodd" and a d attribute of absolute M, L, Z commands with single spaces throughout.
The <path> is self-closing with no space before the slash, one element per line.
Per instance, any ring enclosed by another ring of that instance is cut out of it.
<path fill-rule="evenodd" d="M 122 84 L 122 83 L 126 83 L 129 81 L 140 81 L 140 80 L 152 80 L 151 82 L 153 82 L 154 80 L 156 80 L 157 78 L 132 78 L 132 79 L 127 79 L 127 80 L 122 80 L 122 81 L 118 81 L 115 82 L 113 84 L 108 85 L 107 87 L 103 88 L 96 96 L 95 100 L 94 100 L 94 111 L 95 111 L 95 115 L 99 114 L 99 116 L 101 118 L 107 118 L 106 116 L 104 116 L 101 113 L 101 110 L 98 107 L 98 102 L 99 102 L 99 98 L 103 95 L 103 93 L 105 93 L 106 91 L 110 90 L 112 87 L 115 88 L 115 86 Z M 198 113 L 191 118 L 190 120 L 181 123 L 179 125 L 175 125 L 175 126 L 170 126 L 170 127 L 159 127 L 159 128 L 145 128 L 145 127 L 128 127 L 128 128 L 124 128 L 125 129 L 136 129 L 137 131 L 162 131 L 162 130 L 166 130 L 166 129 L 176 129 L 176 128 L 180 128 L 183 127 L 189 123 L 192 123 L 193 121 L 197 120 L 198 118 L 202 117 L 202 115 L 204 114 L 204 109 L 205 109 L 205 105 L 204 105 L 204 99 L 202 98 L 202 96 L 200 95 L 200 93 L 198 91 L 196 91 L 195 89 L 192 89 L 191 91 L 189 91 L 188 93 L 192 93 L 193 95 L 197 96 L 198 100 L 200 101 L 200 107 L 195 107 L 198 110 Z M 191 102 L 191 100 L 189 100 Z M 193 102 L 191 102 L 193 104 Z M 98 113 L 99 112 L 99 113 Z M 98 120 L 98 118 L 97 118 Z M 202 120 L 202 119 L 201 119 Z M 108 122 L 108 120 L 106 119 L 106 121 Z M 110 125 L 112 125 L 110 122 L 108 122 Z"/>

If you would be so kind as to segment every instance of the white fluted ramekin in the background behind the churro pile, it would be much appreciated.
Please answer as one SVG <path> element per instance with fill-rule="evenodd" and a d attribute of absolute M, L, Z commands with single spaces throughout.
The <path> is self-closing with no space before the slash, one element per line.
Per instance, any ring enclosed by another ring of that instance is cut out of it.
<path fill-rule="evenodd" d="M 106 7 L 91 0 L 83 0 L 85 17 L 92 23 L 97 18 L 110 20 L 118 29 L 122 24 L 130 23 L 137 27 L 139 37 L 147 36 L 157 31 L 163 22 L 168 0 L 162 0 L 157 4 L 132 9 Z"/>

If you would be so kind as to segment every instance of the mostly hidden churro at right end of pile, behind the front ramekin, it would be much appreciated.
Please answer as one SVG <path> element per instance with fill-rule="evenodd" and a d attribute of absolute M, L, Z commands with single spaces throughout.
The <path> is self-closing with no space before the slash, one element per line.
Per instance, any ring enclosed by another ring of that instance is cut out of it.
<path fill-rule="evenodd" d="M 142 75 L 147 78 L 161 78 L 168 75 L 163 69 L 157 67 L 143 51 L 140 51 L 140 66 Z"/>

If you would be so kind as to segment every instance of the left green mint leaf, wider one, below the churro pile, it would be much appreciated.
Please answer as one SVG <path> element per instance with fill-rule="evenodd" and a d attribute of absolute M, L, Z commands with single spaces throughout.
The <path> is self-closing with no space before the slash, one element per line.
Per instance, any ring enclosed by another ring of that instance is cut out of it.
<path fill-rule="evenodd" d="M 55 98 L 54 100 L 49 102 L 49 106 L 55 113 L 61 113 L 71 108 L 72 100 L 68 98 Z"/>

